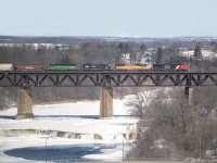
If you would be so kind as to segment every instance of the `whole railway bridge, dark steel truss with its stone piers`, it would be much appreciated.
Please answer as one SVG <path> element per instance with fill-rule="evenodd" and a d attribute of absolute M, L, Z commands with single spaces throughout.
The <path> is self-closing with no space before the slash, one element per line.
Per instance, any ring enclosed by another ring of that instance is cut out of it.
<path fill-rule="evenodd" d="M 183 87 L 189 103 L 193 87 L 217 86 L 210 72 L 44 71 L 0 72 L 0 87 L 20 87 L 16 118 L 34 117 L 31 87 L 101 87 L 100 117 L 113 116 L 114 87 Z"/>

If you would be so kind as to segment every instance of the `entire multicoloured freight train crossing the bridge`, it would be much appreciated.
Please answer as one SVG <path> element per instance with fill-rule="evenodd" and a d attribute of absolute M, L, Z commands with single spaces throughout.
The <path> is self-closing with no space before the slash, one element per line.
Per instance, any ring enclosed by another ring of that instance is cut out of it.
<path fill-rule="evenodd" d="M 78 68 L 76 64 L 12 64 L 0 63 L 0 71 L 188 71 L 184 64 L 116 64 L 114 68 L 108 64 L 82 64 Z"/>

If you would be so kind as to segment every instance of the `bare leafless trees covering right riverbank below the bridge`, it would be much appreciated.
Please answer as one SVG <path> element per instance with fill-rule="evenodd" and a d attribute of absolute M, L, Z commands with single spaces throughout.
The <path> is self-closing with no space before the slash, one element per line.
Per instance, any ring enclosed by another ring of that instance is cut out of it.
<path fill-rule="evenodd" d="M 137 93 L 126 102 L 140 118 L 136 147 L 126 159 L 199 159 L 217 156 L 217 88 L 193 88 L 193 103 L 183 88 Z"/>

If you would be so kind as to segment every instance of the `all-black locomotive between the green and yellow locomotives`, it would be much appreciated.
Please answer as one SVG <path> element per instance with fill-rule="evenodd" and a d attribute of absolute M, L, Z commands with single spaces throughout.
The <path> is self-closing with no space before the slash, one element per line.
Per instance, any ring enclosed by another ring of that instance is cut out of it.
<path fill-rule="evenodd" d="M 108 64 L 82 64 L 82 71 L 111 71 L 111 65 Z"/>

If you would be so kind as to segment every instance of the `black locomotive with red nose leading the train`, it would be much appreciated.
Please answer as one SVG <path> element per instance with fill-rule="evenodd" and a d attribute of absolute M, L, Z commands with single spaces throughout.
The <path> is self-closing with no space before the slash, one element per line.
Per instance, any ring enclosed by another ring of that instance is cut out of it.
<path fill-rule="evenodd" d="M 153 71 L 188 71 L 184 64 L 153 64 Z"/>

